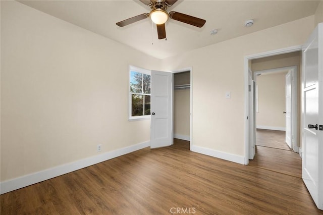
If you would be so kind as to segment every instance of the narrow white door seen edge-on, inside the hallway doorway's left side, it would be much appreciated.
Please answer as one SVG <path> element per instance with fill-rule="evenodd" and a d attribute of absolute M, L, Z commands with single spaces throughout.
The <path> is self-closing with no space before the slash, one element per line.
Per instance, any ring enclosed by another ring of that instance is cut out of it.
<path fill-rule="evenodd" d="M 255 131 L 255 82 L 252 79 L 252 71 L 249 70 L 249 159 L 253 159 L 256 153 Z"/>

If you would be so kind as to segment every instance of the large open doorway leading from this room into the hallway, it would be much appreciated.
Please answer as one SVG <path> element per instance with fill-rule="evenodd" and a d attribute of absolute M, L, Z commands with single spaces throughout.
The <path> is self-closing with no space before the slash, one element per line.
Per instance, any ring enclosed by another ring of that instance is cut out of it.
<path fill-rule="evenodd" d="M 249 67 L 255 83 L 249 107 L 255 117 L 250 128 L 255 155 L 249 165 L 301 177 L 301 158 L 294 153 L 300 147 L 301 52 L 254 59 Z"/>

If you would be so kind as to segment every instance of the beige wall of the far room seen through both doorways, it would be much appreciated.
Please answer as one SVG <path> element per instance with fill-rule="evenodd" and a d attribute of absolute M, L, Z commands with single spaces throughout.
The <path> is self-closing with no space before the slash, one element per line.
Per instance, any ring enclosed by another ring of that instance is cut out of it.
<path fill-rule="evenodd" d="M 285 128 L 285 76 L 287 72 L 261 74 L 258 86 L 257 127 Z M 274 129 L 275 130 L 275 129 Z"/>

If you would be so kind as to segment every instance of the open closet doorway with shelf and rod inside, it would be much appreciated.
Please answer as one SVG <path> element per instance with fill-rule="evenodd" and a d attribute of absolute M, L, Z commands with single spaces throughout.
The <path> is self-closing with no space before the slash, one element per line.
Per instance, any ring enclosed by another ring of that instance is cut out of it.
<path fill-rule="evenodd" d="M 190 149 L 191 140 L 191 70 L 173 74 L 173 131 L 174 144 L 186 145 Z"/>

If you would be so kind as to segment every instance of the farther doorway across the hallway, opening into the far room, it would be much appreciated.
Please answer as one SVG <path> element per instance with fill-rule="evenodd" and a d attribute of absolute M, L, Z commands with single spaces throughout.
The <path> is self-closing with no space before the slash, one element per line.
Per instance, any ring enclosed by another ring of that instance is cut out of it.
<path fill-rule="evenodd" d="M 282 59 L 284 59 L 284 56 Z M 293 63 L 296 64 L 297 62 L 294 61 Z M 256 145 L 298 152 L 298 139 L 296 137 L 297 89 L 299 88 L 297 65 L 255 71 L 253 74 L 255 81 Z M 258 136 L 264 133 L 266 133 L 266 137 L 272 137 L 275 140 L 259 139 Z M 270 133 L 272 135 L 269 135 Z"/>

